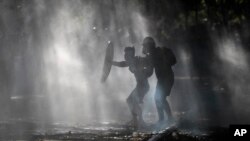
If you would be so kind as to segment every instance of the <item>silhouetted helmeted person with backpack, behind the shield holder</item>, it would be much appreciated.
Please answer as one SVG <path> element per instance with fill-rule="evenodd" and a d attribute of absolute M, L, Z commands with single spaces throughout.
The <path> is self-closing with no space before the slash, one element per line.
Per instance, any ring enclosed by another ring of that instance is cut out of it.
<path fill-rule="evenodd" d="M 155 103 L 159 116 L 158 123 L 164 123 L 164 112 L 167 114 L 168 121 L 171 122 L 173 120 L 172 112 L 166 98 L 170 95 L 174 84 L 172 65 L 176 64 L 176 58 L 172 50 L 156 47 L 152 37 L 146 37 L 143 40 L 143 53 L 150 58 L 158 79 L 155 92 Z"/>

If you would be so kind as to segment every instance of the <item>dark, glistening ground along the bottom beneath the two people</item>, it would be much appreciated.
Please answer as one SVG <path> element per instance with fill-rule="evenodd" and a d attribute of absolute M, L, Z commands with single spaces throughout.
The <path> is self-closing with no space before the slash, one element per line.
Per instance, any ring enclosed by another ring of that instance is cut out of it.
<path fill-rule="evenodd" d="M 227 128 L 185 129 L 179 125 L 156 131 L 135 130 L 120 123 L 41 124 L 30 121 L 0 123 L 0 140 L 30 141 L 217 141 L 227 137 Z"/>

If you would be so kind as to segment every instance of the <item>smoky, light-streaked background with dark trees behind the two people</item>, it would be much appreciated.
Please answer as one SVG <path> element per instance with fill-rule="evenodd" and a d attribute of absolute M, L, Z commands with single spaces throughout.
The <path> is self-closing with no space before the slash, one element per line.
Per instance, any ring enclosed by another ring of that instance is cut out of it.
<path fill-rule="evenodd" d="M 0 119 L 128 121 L 135 79 L 113 67 L 100 83 L 105 48 L 113 41 L 114 59 L 123 60 L 124 47 L 142 55 L 143 38 L 153 36 L 177 56 L 169 98 L 177 119 L 249 123 L 249 2 L 231 2 L 1 0 Z M 144 99 L 147 122 L 157 120 L 155 82 Z"/>

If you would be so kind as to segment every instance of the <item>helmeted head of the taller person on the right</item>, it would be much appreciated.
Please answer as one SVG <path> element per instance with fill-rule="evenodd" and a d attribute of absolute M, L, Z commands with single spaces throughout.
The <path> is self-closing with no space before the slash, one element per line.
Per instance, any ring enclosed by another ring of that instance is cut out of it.
<path fill-rule="evenodd" d="M 146 55 L 152 53 L 153 49 L 156 47 L 155 41 L 152 37 L 144 38 L 142 46 L 142 53 Z"/>

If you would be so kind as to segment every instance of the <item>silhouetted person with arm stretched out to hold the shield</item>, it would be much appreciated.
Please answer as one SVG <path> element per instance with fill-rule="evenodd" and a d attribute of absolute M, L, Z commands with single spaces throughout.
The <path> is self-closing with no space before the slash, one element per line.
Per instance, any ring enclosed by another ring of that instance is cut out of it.
<path fill-rule="evenodd" d="M 130 123 L 138 126 L 139 122 L 139 125 L 144 125 L 141 105 L 144 96 L 149 90 L 148 77 L 152 75 L 153 67 L 150 66 L 147 58 L 135 56 L 135 48 L 126 47 L 124 51 L 125 61 L 113 61 L 112 64 L 118 67 L 129 67 L 129 70 L 134 74 L 137 84 L 127 98 L 127 103 L 133 116 Z"/>

